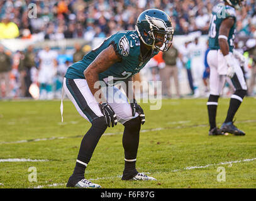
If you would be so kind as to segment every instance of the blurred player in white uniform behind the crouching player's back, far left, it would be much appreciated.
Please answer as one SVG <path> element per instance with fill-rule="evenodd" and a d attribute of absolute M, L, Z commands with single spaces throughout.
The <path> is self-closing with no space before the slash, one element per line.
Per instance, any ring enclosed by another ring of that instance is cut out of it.
<path fill-rule="evenodd" d="M 38 70 L 38 82 L 40 84 L 40 99 L 53 99 L 53 77 L 57 73 L 57 52 L 45 46 L 44 50 L 38 53 L 40 66 Z"/>

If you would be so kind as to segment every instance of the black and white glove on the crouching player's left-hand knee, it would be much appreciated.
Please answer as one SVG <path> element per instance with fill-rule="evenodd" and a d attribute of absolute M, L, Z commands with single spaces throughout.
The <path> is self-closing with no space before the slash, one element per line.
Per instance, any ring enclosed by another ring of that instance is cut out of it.
<path fill-rule="evenodd" d="M 108 125 L 108 127 L 110 127 L 110 125 L 112 127 L 116 126 L 116 124 L 118 123 L 118 119 L 116 118 L 116 114 L 114 113 L 112 107 L 109 106 L 108 102 L 103 102 L 103 104 L 99 104 L 99 108 L 101 109 L 101 112 L 106 119 L 106 124 Z"/>

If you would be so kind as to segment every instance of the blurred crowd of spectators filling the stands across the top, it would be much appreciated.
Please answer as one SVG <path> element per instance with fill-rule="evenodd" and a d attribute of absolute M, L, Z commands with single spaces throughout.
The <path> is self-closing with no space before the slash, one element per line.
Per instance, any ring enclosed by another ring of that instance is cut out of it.
<path fill-rule="evenodd" d="M 256 35 L 255 0 L 245 1 L 245 9 L 238 11 L 237 34 L 253 36 Z M 45 39 L 52 40 L 106 37 L 116 31 L 133 30 L 138 14 L 149 8 L 159 8 L 169 14 L 176 35 L 198 30 L 208 34 L 215 3 L 216 0 L 3 0 L 0 18 L 12 21 L 17 28 L 13 34 L 0 35 L 0 38 L 28 38 L 35 33 L 43 33 Z M 36 18 L 28 18 L 28 8 L 33 8 L 33 4 Z"/>

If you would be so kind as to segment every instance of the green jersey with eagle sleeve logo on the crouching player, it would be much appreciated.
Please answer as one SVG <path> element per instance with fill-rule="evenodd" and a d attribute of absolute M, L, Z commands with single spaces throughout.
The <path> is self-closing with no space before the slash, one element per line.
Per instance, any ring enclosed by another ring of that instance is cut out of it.
<path fill-rule="evenodd" d="M 135 30 L 119 31 L 106 38 L 99 47 L 87 53 L 81 61 L 72 64 L 67 69 L 65 77 L 68 79 L 85 79 L 84 70 L 109 45 L 113 45 L 116 54 L 120 55 L 122 60 L 121 62 L 114 63 L 106 71 L 99 73 L 99 80 L 103 80 L 108 85 L 113 85 L 118 80 L 126 80 L 140 72 L 150 58 L 158 53 L 152 51 L 151 55 L 142 58 L 140 53 L 140 39 L 138 38 L 137 32 Z"/>

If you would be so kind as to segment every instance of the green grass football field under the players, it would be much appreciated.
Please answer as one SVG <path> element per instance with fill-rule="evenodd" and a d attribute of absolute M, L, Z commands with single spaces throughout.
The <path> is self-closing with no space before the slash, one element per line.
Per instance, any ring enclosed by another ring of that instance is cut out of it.
<path fill-rule="evenodd" d="M 121 124 L 101 137 L 86 178 L 102 188 L 256 188 L 256 99 L 245 97 L 236 115 L 235 125 L 245 136 L 208 136 L 206 101 L 162 100 L 159 111 L 141 104 L 146 123 L 136 166 L 157 181 L 121 181 Z M 218 126 L 228 102 L 220 99 Z M 64 124 L 60 101 L 0 101 L 0 188 L 65 188 L 89 127 L 69 100 L 64 101 Z M 43 161 L 6 161 L 14 158 Z M 36 177 L 30 177 L 31 166 Z"/>

